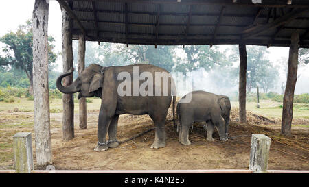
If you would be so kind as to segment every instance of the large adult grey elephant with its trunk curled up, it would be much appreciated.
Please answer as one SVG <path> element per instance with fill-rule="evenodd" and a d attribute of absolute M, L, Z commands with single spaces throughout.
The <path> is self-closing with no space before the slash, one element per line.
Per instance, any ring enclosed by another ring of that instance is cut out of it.
<path fill-rule="evenodd" d="M 165 147 L 165 118 L 174 95 L 174 80 L 166 76 L 169 75 L 168 71 L 150 64 L 110 67 L 91 64 L 82 71 L 73 84 L 63 86 L 62 78 L 71 73 L 73 69 L 58 77 L 56 86 L 60 92 L 65 94 L 79 92 L 78 99 L 93 96 L 102 99 L 98 121 L 98 145 L 95 151 L 106 151 L 108 147 L 119 145 L 117 123 L 120 114 L 148 114 L 156 127 L 155 142 L 151 148 Z M 164 87 L 167 82 L 168 87 Z M 175 98 L 173 98 L 173 116 Z M 107 132 L 108 142 L 106 142 Z"/>

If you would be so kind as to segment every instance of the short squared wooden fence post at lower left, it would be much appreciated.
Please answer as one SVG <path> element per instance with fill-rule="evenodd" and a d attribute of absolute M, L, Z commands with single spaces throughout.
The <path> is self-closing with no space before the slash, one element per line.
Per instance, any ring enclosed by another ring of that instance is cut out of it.
<path fill-rule="evenodd" d="M 34 169 L 31 133 L 19 132 L 13 136 L 13 142 L 16 173 L 31 173 Z"/>

